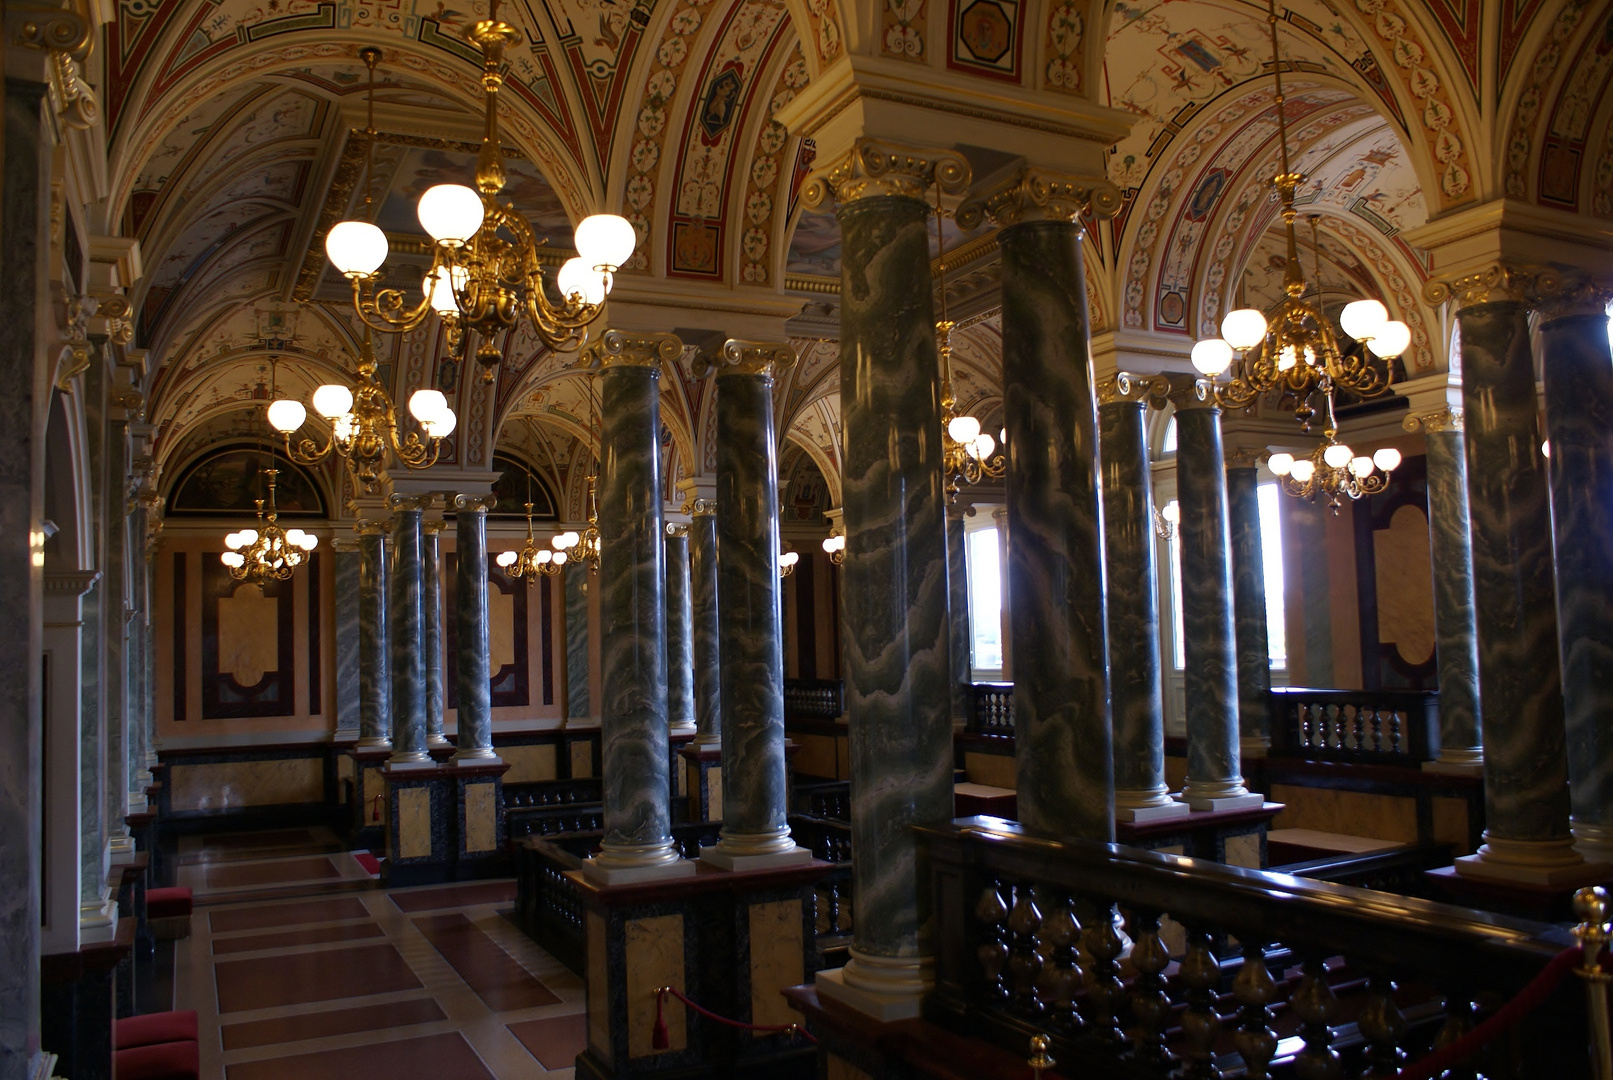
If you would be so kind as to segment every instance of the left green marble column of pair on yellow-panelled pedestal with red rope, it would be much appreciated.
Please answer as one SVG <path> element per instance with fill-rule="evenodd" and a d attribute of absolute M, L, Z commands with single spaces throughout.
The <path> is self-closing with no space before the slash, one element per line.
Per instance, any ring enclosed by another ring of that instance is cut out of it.
<path fill-rule="evenodd" d="M 666 571 L 661 363 L 671 334 L 606 330 L 600 369 L 600 588 L 605 838 L 584 864 L 610 885 L 694 874 L 673 846 L 666 732 Z"/>

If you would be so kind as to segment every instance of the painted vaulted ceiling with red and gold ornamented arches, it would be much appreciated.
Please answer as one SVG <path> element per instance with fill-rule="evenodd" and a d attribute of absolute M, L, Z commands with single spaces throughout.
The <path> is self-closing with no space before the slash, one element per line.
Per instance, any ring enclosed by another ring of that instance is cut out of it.
<path fill-rule="evenodd" d="M 1265 3 L 503 0 L 498 13 L 521 31 L 502 113 L 506 193 L 561 251 L 579 218 L 626 214 L 640 234 L 627 280 L 695 301 L 700 290 L 795 297 L 808 311 L 777 387 L 781 469 L 829 505 L 839 371 L 823 327 L 839 229 L 800 208 L 815 148 L 774 114 L 847 52 L 1134 118 L 1108 153 L 1124 206 L 1086 240 L 1097 330 L 1186 342 L 1239 293 L 1258 303 L 1279 287 Z M 400 251 L 398 280 L 424 266 L 413 198 L 469 177 L 481 85 L 463 32 L 486 16 L 487 0 L 119 0 L 90 74 L 110 140 L 103 227 L 144 253 L 131 300 L 165 476 L 216 438 L 261 430 L 266 387 L 303 397 L 350 377 L 360 327 L 323 235 L 369 214 Z M 1407 319 L 1410 371 L 1444 361 L 1407 231 L 1500 197 L 1613 218 L 1613 0 L 1286 0 L 1276 32 L 1290 152 L 1308 176 L 1302 263 L 1329 298 L 1382 297 Z M 1100 61 L 1086 63 L 1098 44 Z M 384 52 L 368 181 L 366 45 Z M 989 148 L 966 153 L 977 174 L 1003 164 Z M 945 243 L 968 245 L 948 261 L 948 295 L 986 297 L 958 332 L 958 397 L 990 414 L 994 243 L 955 229 Z M 265 311 L 294 313 L 295 334 L 266 329 Z M 694 324 L 723 329 L 718 316 Z M 574 519 L 589 379 L 524 332 L 503 345 L 492 385 L 466 377 L 436 326 L 376 348 L 400 398 L 426 385 L 450 395 L 461 424 L 448 458 L 487 467 L 495 447 L 513 451 Z M 708 347 L 692 343 L 663 379 L 669 498 L 713 467 L 713 385 L 695 376 Z"/>

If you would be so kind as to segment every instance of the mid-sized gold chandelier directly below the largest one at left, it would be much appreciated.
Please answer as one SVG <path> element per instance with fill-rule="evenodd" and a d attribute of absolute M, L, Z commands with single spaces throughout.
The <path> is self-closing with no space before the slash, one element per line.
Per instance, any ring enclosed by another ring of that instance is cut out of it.
<path fill-rule="evenodd" d="M 269 403 L 269 426 L 284 435 L 286 455 L 297 464 L 319 464 L 332 453 L 339 455 L 365 490 L 374 488 L 389 450 L 410 469 L 434 466 L 442 440 L 458 424 L 442 390 L 416 390 L 410 395 L 408 411 L 429 442 L 421 442 L 416 432 L 400 434 L 397 408 L 376 377 L 376 353 L 368 327 L 358 355 L 358 387 L 326 384 L 313 392 L 313 408 L 331 427 L 326 443 L 321 447 L 313 438 L 303 438 L 294 447 L 292 435 L 308 419 L 308 409 L 292 398 Z"/>

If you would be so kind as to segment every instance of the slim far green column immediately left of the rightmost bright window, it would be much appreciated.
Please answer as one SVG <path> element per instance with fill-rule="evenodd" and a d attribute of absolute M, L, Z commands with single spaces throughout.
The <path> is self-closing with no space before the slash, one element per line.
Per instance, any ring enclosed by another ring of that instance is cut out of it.
<path fill-rule="evenodd" d="M 1271 750 L 1271 640 L 1266 630 L 1266 561 L 1260 546 L 1257 455 L 1245 450 L 1227 455 L 1226 508 L 1232 543 L 1239 753 L 1242 758 L 1265 758 Z"/>

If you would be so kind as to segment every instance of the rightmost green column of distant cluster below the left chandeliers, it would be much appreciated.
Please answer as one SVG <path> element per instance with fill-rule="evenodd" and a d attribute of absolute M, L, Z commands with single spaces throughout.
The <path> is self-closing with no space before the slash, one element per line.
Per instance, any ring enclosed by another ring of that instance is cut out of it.
<path fill-rule="evenodd" d="M 492 498 L 453 500 L 453 630 L 458 750 L 455 761 L 486 764 L 494 753 L 492 659 L 487 638 L 487 506 Z"/>

